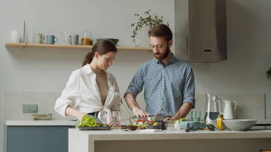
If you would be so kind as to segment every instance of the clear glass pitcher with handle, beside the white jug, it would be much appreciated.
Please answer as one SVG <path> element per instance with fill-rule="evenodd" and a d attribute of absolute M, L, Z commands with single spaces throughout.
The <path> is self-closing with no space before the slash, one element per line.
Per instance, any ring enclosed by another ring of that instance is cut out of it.
<path fill-rule="evenodd" d="M 217 96 L 210 96 L 209 93 L 206 93 L 206 104 L 205 104 L 205 113 L 204 113 L 204 125 L 212 124 L 216 126 L 216 118 L 219 114 L 219 105 L 218 100 L 220 100 L 220 110 L 223 112 L 222 99 Z"/>

